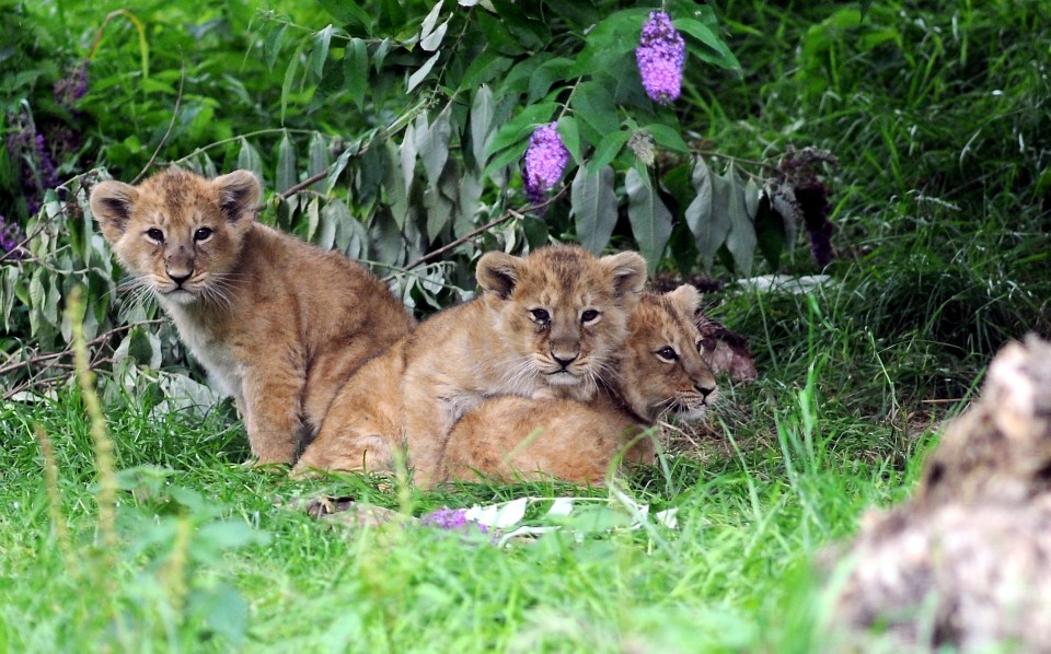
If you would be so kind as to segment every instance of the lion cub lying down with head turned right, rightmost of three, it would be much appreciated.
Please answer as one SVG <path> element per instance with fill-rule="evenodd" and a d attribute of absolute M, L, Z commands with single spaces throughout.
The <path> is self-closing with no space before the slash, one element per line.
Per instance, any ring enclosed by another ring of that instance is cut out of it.
<path fill-rule="evenodd" d="M 691 285 L 643 295 L 611 388 L 591 402 L 498 397 L 467 411 L 449 435 L 440 477 L 601 483 L 621 453 L 651 464 L 645 430 L 665 413 L 696 420 L 716 399 L 693 319 L 700 302 Z"/>

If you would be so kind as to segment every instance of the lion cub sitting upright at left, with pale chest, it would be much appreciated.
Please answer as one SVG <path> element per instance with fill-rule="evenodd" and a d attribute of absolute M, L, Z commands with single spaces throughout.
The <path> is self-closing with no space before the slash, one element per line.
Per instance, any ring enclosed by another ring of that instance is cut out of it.
<path fill-rule="evenodd" d="M 232 395 L 259 464 L 291 463 L 358 366 L 413 327 L 343 255 L 256 222 L 259 183 L 170 168 L 103 182 L 91 211 L 124 267 Z"/>

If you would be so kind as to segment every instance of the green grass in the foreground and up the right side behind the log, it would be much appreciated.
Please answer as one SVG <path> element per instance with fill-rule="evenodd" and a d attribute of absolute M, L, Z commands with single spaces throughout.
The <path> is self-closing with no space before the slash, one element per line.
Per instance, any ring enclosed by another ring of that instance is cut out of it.
<path fill-rule="evenodd" d="M 1051 334 L 1049 54 L 1033 45 L 1051 40 L 1051 10 L 877 2 L 858 24 L 839 7 L 728 2 L 744 80 L 688 87 L 707 109 L 697 131 L 726 151 L 816 143 L 839 156 L 840 258 L 811 295 L 715 296 L 762 375 L 725 385 L 696 444 L 625 489 L 677 507 L 677 529 L 508 549 L 434 528 L 347 529 L 290 502 L 324 492 L 420 515 L 610 493 L 291 481 L 240 465 L 228 406 L 161 414 L 112 392 L 120 490 L 117 545 L 104 548 L 90 420 L 70 387 L 0 407 L 0 650 L 834 650 L 818 552 L 866 507 L 908 494 L 937 425 L 1005 339 Z M 805 248 L 787 271 L 813 272 Z"/>

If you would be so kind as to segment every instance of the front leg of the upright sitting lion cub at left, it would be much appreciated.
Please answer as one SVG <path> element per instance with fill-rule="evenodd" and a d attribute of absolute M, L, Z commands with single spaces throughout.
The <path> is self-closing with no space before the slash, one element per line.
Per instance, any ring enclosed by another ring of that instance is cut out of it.
<path fill-rule="evenodd" d="M 296 459 L 304 384 L 299 371 L 286 366 L 256 365 L 245 370 L 242 408 L 256 465 L 290 464 Z"/>

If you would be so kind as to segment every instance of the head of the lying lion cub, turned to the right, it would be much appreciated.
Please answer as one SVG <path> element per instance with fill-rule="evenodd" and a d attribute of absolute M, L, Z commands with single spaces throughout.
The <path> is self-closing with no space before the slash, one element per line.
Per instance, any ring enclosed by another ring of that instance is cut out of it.
<path fill-rule="evenodd" d="M 647 422 L 666 412 L 696 420 L 715 402 L 715 377 L 701 358 L 702 338 L 694 323 L 700 304 L 697 290 L 682 285 L 662 295 L 643 295 L 628 319 L 617 390 Z"/>

